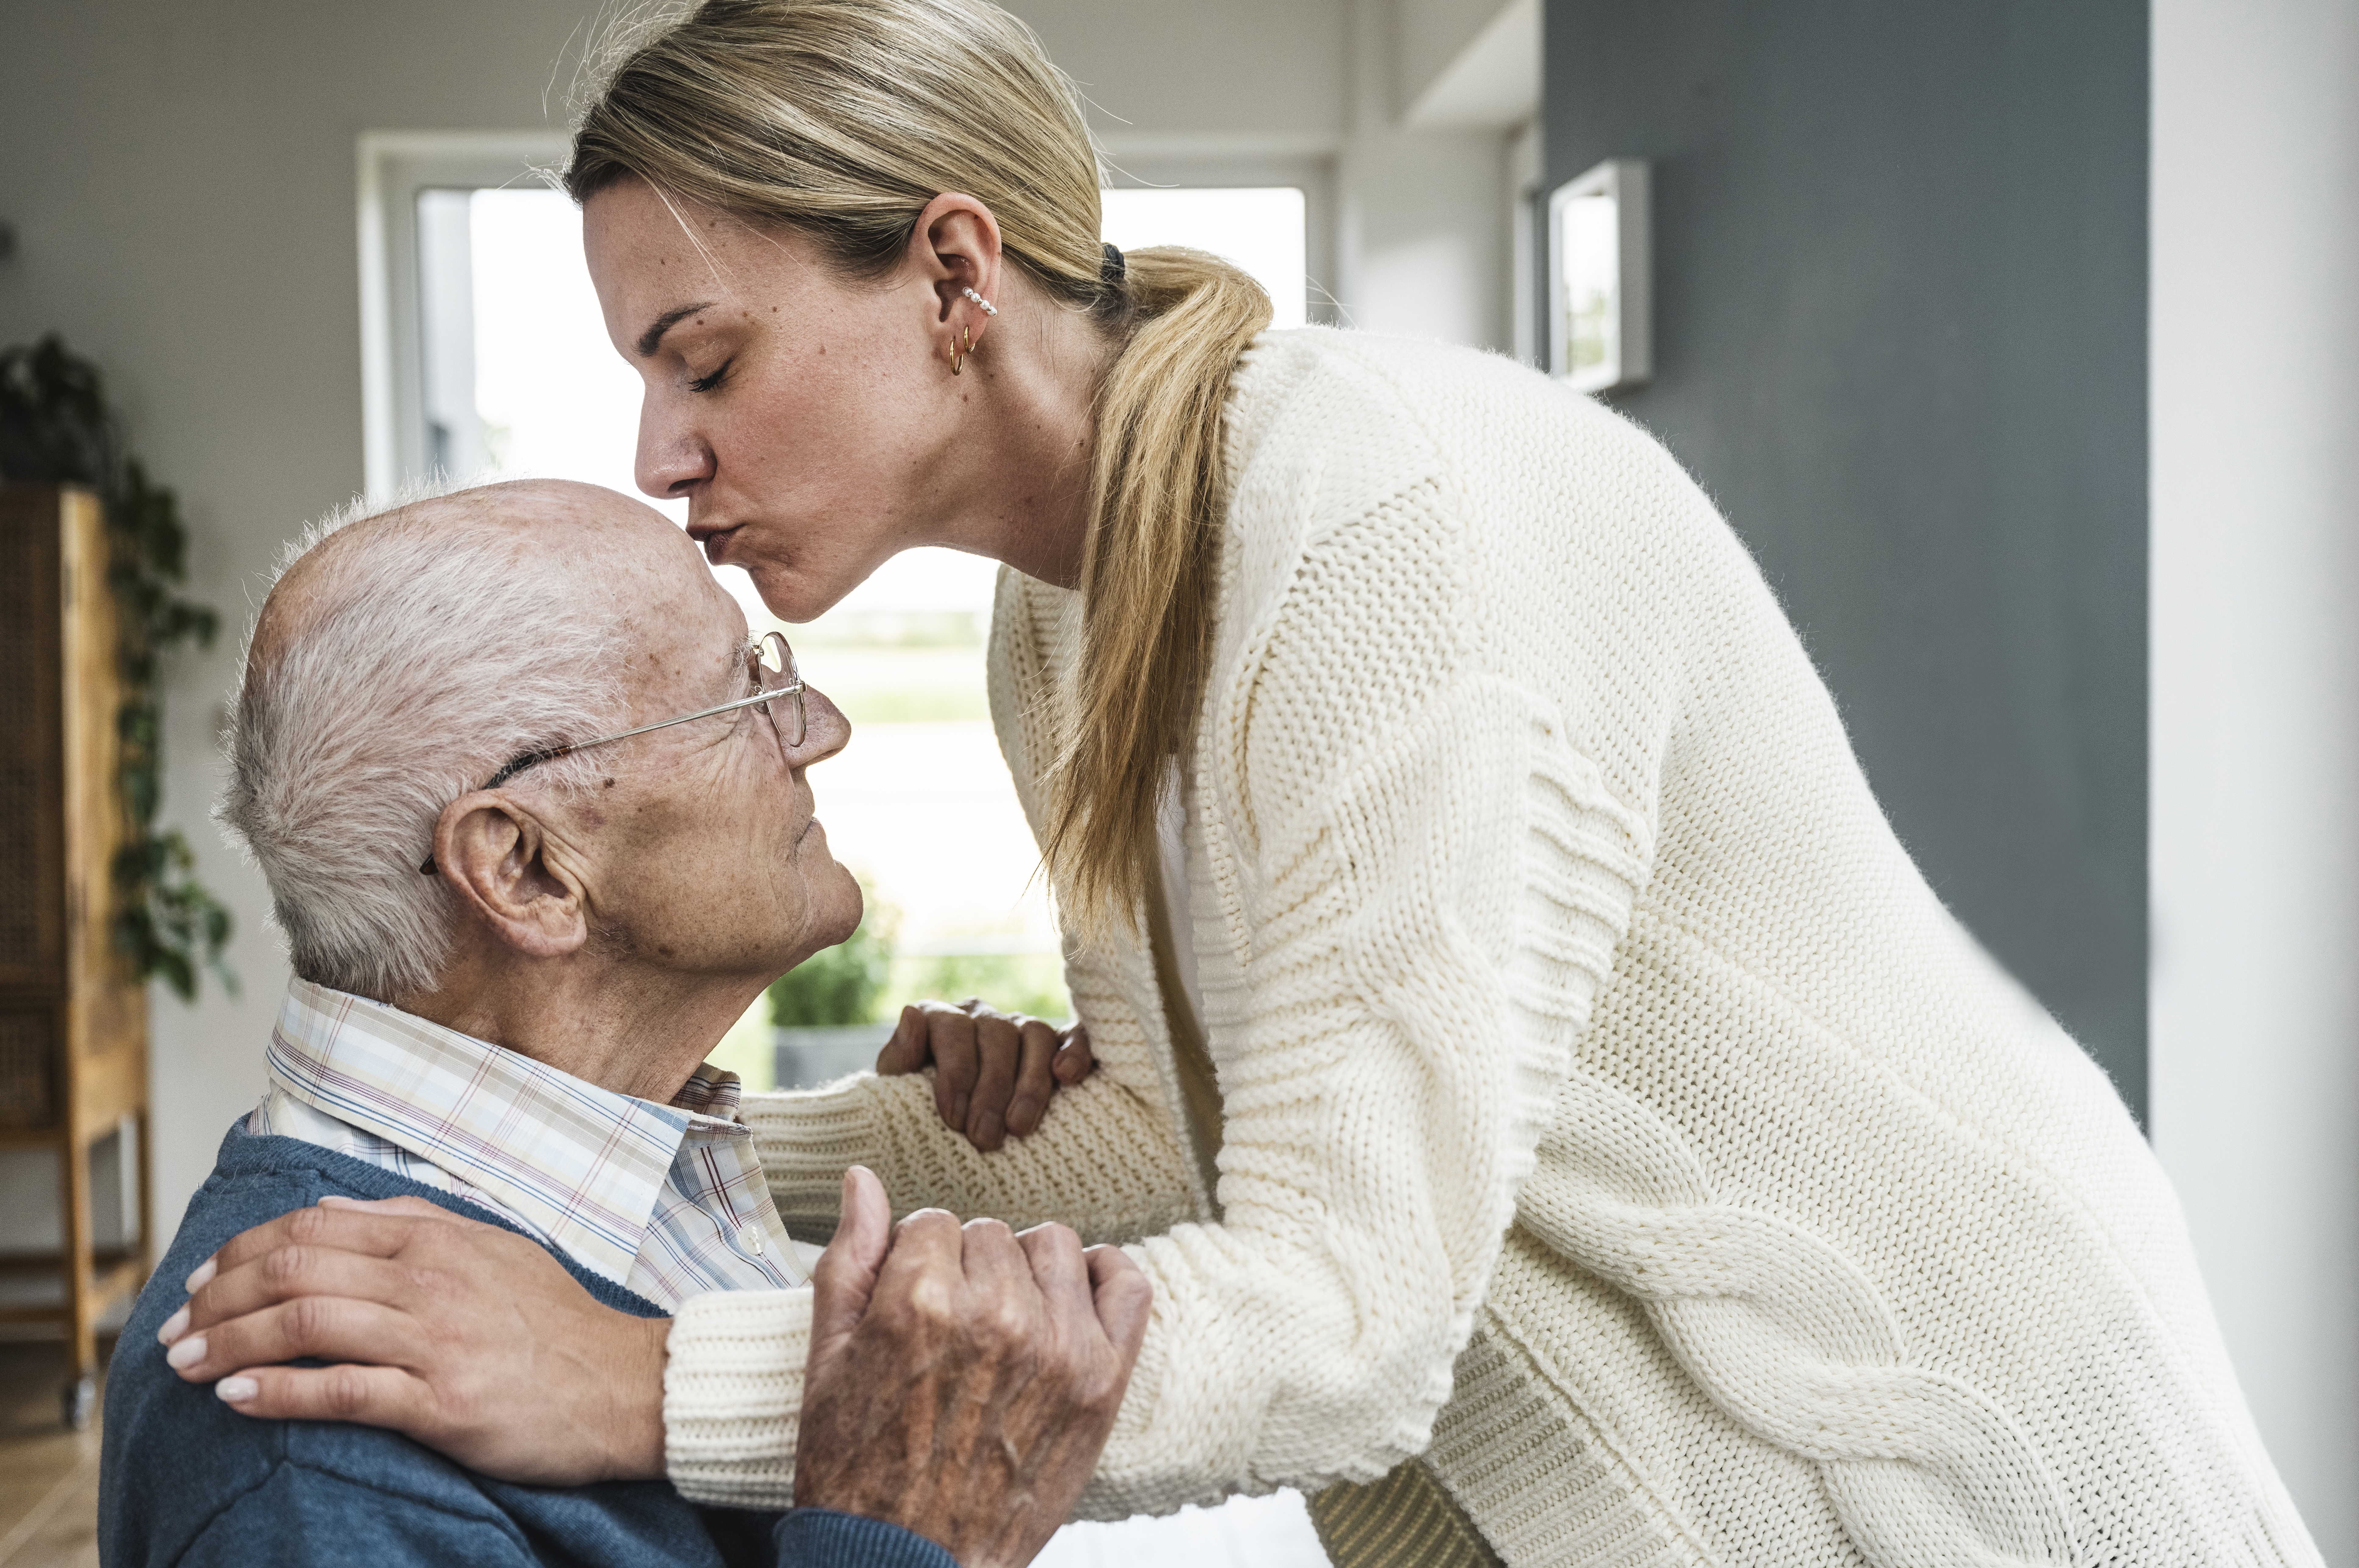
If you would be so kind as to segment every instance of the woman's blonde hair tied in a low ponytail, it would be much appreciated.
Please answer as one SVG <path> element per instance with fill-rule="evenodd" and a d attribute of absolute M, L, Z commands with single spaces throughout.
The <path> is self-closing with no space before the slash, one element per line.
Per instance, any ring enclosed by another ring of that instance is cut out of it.
<path fill-rule="evenodd" d="M 1196 250 L 1111 264 L 1080 97 L 988 0 L 705 0 L 620 57 L 573 137 L 576 200 L 632 174 L 786 224 L 847 276 L 896 266 L 925 205 L 962 191 L 1040 292 L 1121 344 L 1097 389 L 1047 865 L 1083 927 L 1132 922 L 1210 660 L 1229 377 L 1269 295 Z"/>

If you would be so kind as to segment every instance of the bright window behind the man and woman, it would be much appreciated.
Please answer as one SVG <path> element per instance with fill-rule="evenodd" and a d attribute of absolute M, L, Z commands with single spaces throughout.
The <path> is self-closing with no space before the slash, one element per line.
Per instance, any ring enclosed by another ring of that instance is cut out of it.
<path fill-rule="evenodd" d="M 606 342 L 580 212 L 528 170 L 557 156 L 531 139 L 363 141 L 373 490 L 429 474 L 531 474 L 637 495 L 639 377 Z M 1121 189 L 1106 191 L 1104 233 L 1125 250 L 1227 255 L 1269 288 L 1276 325 L 1300 325 L 1305 215 L 1302 184 Z M 684 502 L 656 505 L 686 519 Z M 755 630 L 778 625 L 743 571 L 717 575 Z M 774 1037 L 769 1009 L 755 1007 L 715 1054 L 753 1087 L 866 1066 L 915 997 L 1071 1009 L 1038 851 L 984 696 L 993 582 L 991 561 L 918 549 L 816 622 L 783 627 L 804 677 L 854 726 L 811 788 L 837 858 L 870 889 L 870 917 L 861 943 L 788 983 L 804 1028 Z"/>

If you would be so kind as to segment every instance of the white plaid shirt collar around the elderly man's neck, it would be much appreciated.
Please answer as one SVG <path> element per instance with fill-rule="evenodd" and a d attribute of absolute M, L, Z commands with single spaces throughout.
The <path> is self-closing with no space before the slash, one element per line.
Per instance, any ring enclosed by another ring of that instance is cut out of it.
<path fill-rule="evenodd" d="M 710 1063 L 658 1106 L 300 979 L 271 1028 L 269 1078 L 484 1188 L 611 1280 L 630 1278 L 679 1146 L 750 1137 L 736 1073 Z"/>

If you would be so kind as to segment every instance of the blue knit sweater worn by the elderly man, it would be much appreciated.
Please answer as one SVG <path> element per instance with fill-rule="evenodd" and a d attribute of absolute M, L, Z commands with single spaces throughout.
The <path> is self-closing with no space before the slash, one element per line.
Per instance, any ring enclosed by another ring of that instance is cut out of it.
<path fill-rule="evenodd" d="M 875 1518 L 703 1509 L 668 1481 L 507 1485 L 392 1431 L 259 1422 L 210 1386 L 182 1382 L 156 1344 L 156 1327 L 189 1299 L 179 1283 L 238 1231 L 328 1195 L 425 1198 L 502 1224 L 361 1160 L 231 1127 L 109 1368 L 99 1469 L 99 1561 L 109 1568 L 953 1568 L 934 1542 Z M 663 1316 L 646 1297 L 554 1257 L 606 1306 Z"/>

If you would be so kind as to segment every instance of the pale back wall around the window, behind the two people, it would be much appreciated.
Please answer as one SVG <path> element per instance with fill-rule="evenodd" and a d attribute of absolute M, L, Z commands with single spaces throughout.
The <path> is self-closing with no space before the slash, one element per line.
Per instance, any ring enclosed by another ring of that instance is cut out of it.
<path fill-rule="evenodd" d="M 1503 342 L 1498 177 L 1481 137 L 1413 139 L 1389 78 L 1354 118 L 1380 0 L 1019 0 L 1099 125 L 1165 151 L 1333 158 L 1354 125 L 1338 292 L 1361 325 Z M 236 625 L 274 549 L 361 488 L 354 144 L 363 130 L 521 130 L 564 118 L 569 47 L 599 0 L 75 0 L 0 14 L 0 342 L 66 332 L 111 377 L 149 469 L 182 493 L 191 592 Z M 1385 35 L 1387 28 L 1378 28 Z M 1389 42 L 1385 45 L 1389 52 Z M 1467 224 L 1470 241 L 1453 238 Z M 238 917 L 238 1000 L 156 997 L 158 1226 L 259 1092 L 285 983 L 259 879 L 205 821 L 231 634 L 170 693 L 165 821 Z M 0 1162 L 0 1214 L 40 1179 Z M 0 1221 L 5 1224 L 5 1221 Z M 38 1240 L 0 1233 L 0 1245 Z"/>

